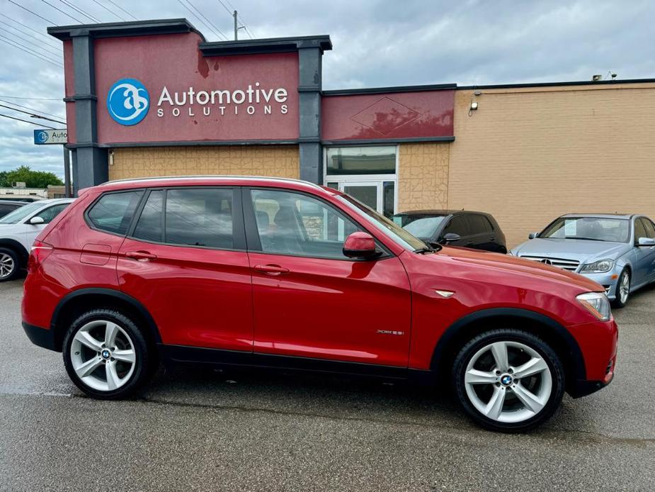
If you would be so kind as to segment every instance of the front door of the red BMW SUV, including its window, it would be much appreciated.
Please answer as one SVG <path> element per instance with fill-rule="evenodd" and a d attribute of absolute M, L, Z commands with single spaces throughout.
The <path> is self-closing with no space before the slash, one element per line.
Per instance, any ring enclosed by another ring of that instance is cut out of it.
<path fill-rule="evenodd" d="M 361 228 L 307 194 L 251 189 L 244 213 L 255 352 L 406 367 L 411 298 L 397 257 L 345 257 Z"/>

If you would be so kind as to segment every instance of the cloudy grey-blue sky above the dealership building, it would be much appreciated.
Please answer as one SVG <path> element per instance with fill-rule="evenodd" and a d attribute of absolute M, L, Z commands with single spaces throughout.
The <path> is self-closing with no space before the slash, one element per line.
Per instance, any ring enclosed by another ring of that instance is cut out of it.
<path fill-rule="evenodd" d="M 61 46 L 41 34 L 46 26 L 90 23 L 85 13 L 103 22 L 186 17 L 220 40 L 212 29 L 232 33 L 222 4 L 257 38 L 331 35 L 324 89 L 655 77 L 652 0 L 0 0 L 0 105 L 63 118 Z M 0 117 L 0 170 L 27 164 L 62 175 L 62 148 L 33 145 L 34 128 Z"/>

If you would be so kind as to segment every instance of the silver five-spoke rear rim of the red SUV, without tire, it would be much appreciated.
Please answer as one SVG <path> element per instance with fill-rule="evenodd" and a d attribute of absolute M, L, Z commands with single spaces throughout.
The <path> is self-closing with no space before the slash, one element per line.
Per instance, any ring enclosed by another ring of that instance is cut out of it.
<path fill-rule="evenodd" d="M 97 391 L 114 391 L 130 381 L 135 371 L 135 345 L 118 324 L 93 320 L 77 330 L 70 359 L 75 374 Z"/>

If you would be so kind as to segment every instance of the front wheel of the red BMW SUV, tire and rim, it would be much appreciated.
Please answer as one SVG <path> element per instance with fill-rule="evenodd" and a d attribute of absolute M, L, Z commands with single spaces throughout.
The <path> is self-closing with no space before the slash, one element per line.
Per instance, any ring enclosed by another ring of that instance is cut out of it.
<path fill-rule="evenodd" d="M 457 398 L 482 427 L 524 432 L 545 422 L 564 394 L 564 369 L 543 340 L 513 329 L 470 340 L 455 358 Z"/>

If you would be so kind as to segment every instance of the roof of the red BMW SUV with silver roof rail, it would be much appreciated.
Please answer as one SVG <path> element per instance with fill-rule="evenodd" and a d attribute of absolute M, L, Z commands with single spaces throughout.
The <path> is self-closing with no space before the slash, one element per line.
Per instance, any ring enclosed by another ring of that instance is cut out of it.
<path fill-rule="evenodd" d="M 291 189 L 311 189 L 312 191 L 334 191 L 324 186 L 302 181 L 300 179 L 259 177 L 259 176 L 160 176 L 134 179 L 118 179 L 107 181 L 95 186 L 101 191 L 132 189 L 132 188 L 158 188 L 160 186 L 270 186 Z"/>

